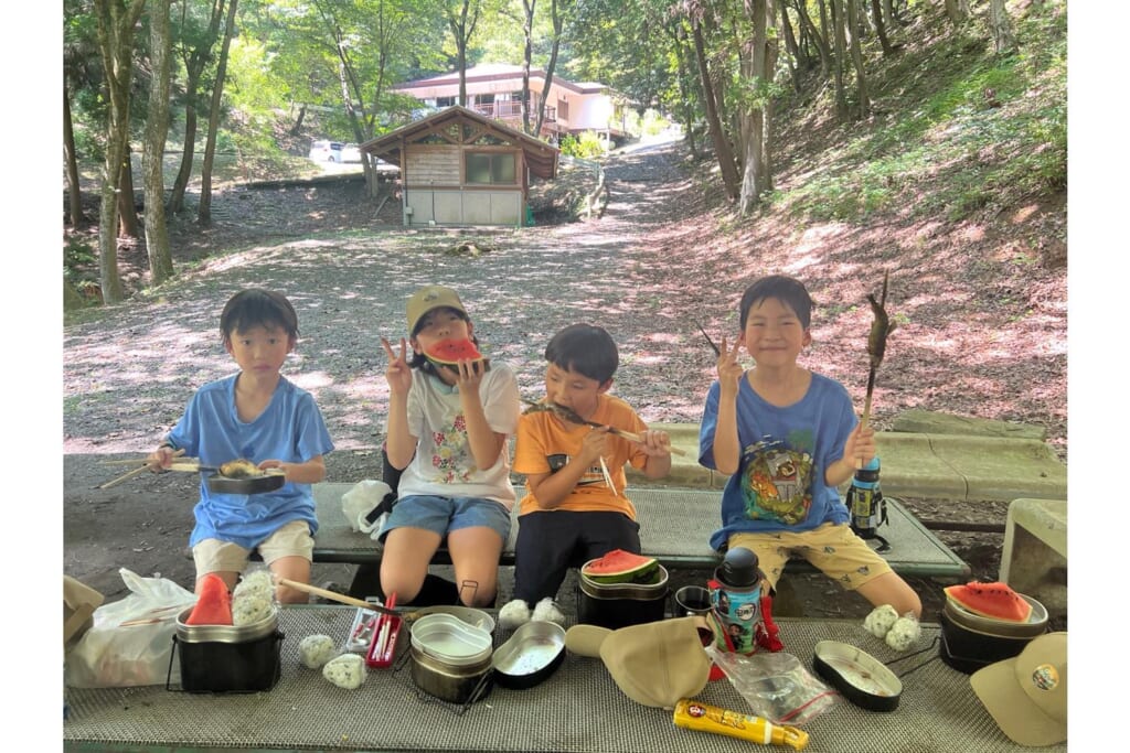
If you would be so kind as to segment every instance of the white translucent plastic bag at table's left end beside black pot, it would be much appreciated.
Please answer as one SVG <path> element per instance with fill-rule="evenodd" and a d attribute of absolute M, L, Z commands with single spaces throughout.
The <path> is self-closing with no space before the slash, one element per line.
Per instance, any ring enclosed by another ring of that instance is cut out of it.
<path fill-rule="evenodd" d="M 197 596 L 167 578 L 142 578 L 119 570 L 130 594 L 94 611 L 94 624 L 66 657 L 71 688 L 131 688 L 180 682 L 169 663 L 176 618 Z"/>

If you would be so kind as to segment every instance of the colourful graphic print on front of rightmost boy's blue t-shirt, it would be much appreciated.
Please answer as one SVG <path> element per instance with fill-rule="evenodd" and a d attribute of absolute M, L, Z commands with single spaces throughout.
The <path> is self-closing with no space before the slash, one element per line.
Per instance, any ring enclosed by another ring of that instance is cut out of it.
<path fill-rule="evenodd" d="M 809 485 L 812 457 L 784 443 L 763 439 L 744 452 L 741 491 L 746 517 L 776 520 L 785 525 L 808 517 L 812 505 Z"/>

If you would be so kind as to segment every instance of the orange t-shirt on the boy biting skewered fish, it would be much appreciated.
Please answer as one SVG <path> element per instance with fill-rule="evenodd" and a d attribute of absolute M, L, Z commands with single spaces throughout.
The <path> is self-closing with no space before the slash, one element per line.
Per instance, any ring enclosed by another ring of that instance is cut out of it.
<path fill-rule="evenodd" d="M 619 397 L 600 395 L 597 411 L 591 419 L 598 423 L 610 426 L 624 431 L 641 432 L 647 424 L 636 415 L 632 406 Z M 518 440 L 514 446 L 514 472 L 525 475 L 549 473 L 554 467 L 562 467 L 581 452 L 584 436 L 592 429 L 588 426 L 566 423 L 548 411 L 525 413 L 518 421 Z M 609 436 L 610 452 L 605 455 L 608 474 L 616 487 L 615 493 L 605 482 L 600 464 L 586 469 L 573 491 L 554 509 L 572 511 L 624 513 L 635 520 L 635 507 L 625 496 L 627 478 L 624 464 L 632 463 L 636 469 L 643 469 L 647 463 L 646 453 L 640 445 L 623 437 Z M 525 484 L 525 497 L 522 498 L 519 515 L 541 510 L 538 500 Z"/>

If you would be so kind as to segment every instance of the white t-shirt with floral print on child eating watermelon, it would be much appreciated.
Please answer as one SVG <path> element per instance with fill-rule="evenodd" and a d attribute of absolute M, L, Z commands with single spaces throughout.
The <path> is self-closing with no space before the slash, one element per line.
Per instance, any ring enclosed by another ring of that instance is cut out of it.
<path fill-rule="evenodd" d="M 508 438 L 518 429 L 521 404 L 518 379 L 510 366 L 492 361 L 490 370 L 479 383 L 479 396 L 487 424 L 494 431 L 507 435 L 507 446 L 489 469 L 475 465 L 468 446 L 459 388 L 412 369 L 412 386 L 408 393 L 408 431 L 419 441 L 416 455 L 400 476 L 398 496 L 477 497 L 493 499 L 507 510 L 514 506 Z"/>

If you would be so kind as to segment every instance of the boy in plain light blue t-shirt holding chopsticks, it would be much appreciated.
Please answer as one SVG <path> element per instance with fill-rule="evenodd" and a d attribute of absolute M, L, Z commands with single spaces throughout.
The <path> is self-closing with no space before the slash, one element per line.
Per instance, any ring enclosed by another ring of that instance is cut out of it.
<path fill-rule="evenodd" d="M 298 315 L 281 294 L 250 289 L 227 301 L 219 326 L 240 371 L 197 391 L 149 464 L 167 469 L 183 450 L 202 465 L 246 458 L 281 471 L 280 489 L 257 494 L 214 492 L 201 474 L 189 539 L 197 585 L 216 572 L 233 589 L 257 549 L 277 578 L 306 584 L 318 531 L 311 484 L 325 478 L 322 456 L 333 443 L 313 395 L 280 374 L 298 340 Z M 307 601 L 284 585 L 275 593 L 281 603 Z"/>

